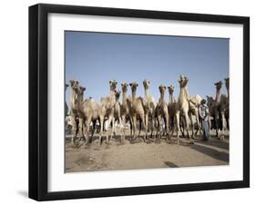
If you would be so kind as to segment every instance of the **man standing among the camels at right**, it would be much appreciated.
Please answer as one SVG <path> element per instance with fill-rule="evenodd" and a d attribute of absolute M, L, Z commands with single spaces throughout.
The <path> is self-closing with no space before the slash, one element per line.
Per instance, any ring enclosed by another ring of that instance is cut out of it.
<path fill-rule="evenodd" d="M 202 121 L 203 141 L 209 140 L 208 115 L 209 108 L 206 105 L 206 100 L 203 99 L 200 102 L 200 119 Z"/>

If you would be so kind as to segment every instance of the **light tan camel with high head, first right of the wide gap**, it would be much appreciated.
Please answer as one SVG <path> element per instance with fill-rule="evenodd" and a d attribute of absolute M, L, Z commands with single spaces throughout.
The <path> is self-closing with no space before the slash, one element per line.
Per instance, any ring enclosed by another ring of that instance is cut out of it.
<path fill-rule="evenodd" d="M 110 86 L 109 96 L 105 98 L 101 98 L 99 144 L 101 144 L 105 118 L 108 118 L 108 125 L 107 125 L 107 132 L 106 132 L 107 143 L 109 143 L 108 128 L 111 122 L 112 122 L 112 130 L 110 133 L 110 139 L 114 134 L 114 129 L 115 129 L 114 128 L 115 126 L 114 108 L 116 103 L 115 91 L 117 88 L 117 84 L 118 82 L 116 80 L 109 81 L 109 86 Z"/>

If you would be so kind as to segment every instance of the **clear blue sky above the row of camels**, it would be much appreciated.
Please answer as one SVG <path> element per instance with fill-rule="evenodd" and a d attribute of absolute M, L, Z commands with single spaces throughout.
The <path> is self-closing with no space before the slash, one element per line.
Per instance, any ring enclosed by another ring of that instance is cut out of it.
<path fill-rule="evenodd" d="M 229 39 L 66 31 L 65 46 L 66 82 L 78 80 L 87 88 L 85 97 L 97 102 L 108 95 L 111 79 L 118 81 L 119 90 L 121 83 L 136 81 L 137 95 L 144 96 L 147 78 L 158 101 L 160 84 L 174 85 L 177 99 L 180 74 L 189 77 L 190 96 L 202 98 L 215 96 L 213 83 L 229 76 Z M 227 93 L 225 86 L 222 93 Z"/>

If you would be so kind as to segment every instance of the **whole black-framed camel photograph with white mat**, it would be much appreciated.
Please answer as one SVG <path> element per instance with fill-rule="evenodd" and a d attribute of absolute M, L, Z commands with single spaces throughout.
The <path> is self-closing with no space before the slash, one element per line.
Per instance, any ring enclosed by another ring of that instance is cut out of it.
<path fill-rule="evenodd" d="M 29 197 L 250 186 L 250 18 L 29 7 Z"/>

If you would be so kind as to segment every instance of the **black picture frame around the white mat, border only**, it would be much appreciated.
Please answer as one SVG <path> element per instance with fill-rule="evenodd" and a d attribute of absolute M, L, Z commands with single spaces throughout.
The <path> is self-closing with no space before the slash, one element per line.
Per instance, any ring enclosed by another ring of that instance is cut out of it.
<path fill-rule="evenodd" d="M 243 25 L 243 180 L 155 185 L 101 190 L 47 190 L 47 15 L 122 16 Z M 191 190 L 221 190 L 250 187 L 250 18 L 201 15 L 76 5 L 32 5 L 29 7 L 29 198 L 67 200 Z"/>

